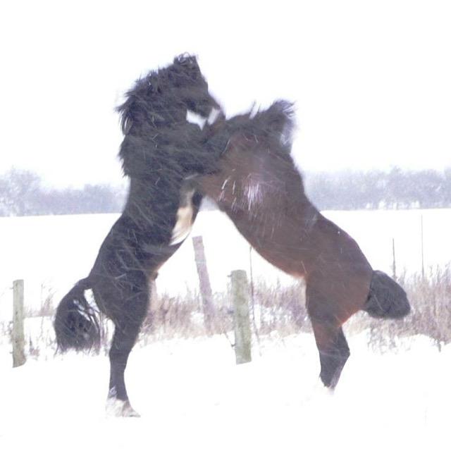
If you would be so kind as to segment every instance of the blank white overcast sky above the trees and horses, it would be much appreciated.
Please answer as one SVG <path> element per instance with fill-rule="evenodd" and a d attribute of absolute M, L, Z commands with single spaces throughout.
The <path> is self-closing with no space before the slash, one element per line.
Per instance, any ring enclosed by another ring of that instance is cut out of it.
<path fill-rule="evenodd" d="M 228 115 L 295 101 L 306 171 L 451 166 L 450 24 L 434 0 L 2 2 L 0 173 L 121 183 L 114 107 L 184 51 Z"/>

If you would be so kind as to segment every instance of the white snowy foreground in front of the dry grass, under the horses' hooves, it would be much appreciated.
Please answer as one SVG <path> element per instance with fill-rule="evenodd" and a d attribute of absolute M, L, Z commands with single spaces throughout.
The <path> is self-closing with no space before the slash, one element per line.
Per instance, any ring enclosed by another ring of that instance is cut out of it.
<path fill-rule="evenodd" d="M 451 347 L 424 337 L 378 354 L 364 334 L 333 395 L 309 334 L 264 341 L 235 365 L 226 338 L 135 349 L 126 378 L 140 419 L 106 419 L 106 357 L 1 370 L 1 450 L 449 450 Z"/>

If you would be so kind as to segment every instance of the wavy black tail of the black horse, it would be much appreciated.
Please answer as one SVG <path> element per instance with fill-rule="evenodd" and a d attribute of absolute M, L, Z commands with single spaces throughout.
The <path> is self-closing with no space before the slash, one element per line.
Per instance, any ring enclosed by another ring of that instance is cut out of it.
<path fill-rule="evenodd" d="M 91 288 L 89 278 L 79 280 L 61 299 L 56 309 L 54 328 L 58 350 L 99 349 L 100 326 L 96 311 L 89 305 L 85 290 Z"/>

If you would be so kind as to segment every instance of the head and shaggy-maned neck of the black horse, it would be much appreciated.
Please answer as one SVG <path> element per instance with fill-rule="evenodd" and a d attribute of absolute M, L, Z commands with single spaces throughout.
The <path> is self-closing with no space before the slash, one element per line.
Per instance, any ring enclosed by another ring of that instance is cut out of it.
<path fill-rule="evenodd" d="M 137 80 L 118 107 L 125 135 L 119 157 L 125 175 L 148 179 L 163 169 L 203 173 L 214 159 L 203 146 L 204 132 L 187 123 L 186 112 L 208 116 L 218 107 L 195 56 L 178 56 L 171 66 Z"/>

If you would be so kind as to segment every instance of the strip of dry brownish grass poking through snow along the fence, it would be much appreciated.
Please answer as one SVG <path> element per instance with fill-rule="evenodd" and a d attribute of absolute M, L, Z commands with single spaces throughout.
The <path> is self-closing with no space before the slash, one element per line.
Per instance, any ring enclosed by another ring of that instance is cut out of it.
<path fill-rule="evenodd" d="M 402 320 L 372 319 L 367 314 L 354 315 L 346 324 L 346 333 L 368 331 L 369 346 L 374 350 L 395 347 L 401 337 L 426 335 L 440 347 L 451 342 L 451 268 L 431 268 L 422 276 L 402 276 L 400 284 L 407 291 L 412 313 Z M 278 339 L 292 333 L 311 331 L 307 310 L 304 307 L 302 283 L 284 287 L 259 281 L 253 288 L 250 305 L 252 331 L 259 338 L 275 336 Z M 29 333 L 29 355 L 39 356 L 42 348 L 55 350 L 51 319 L 54 311 L 51 295 L 46 297 L 39 311 L 30 316 L 40 317 L 40 326 Z M 39 321 L 39 318 L 28 321 Z M 109 347 L 113 326 L 105 318 L 102 346 Z M 3 342 L 10 340 L 11 323 L 0 323 Z M 198 292 L 187 292 L 182 297 L 161 295 L 153 299 L 152 308 L 144 320 L 138 345 L 168 338 L 192 338 L 211 334 L 226 334 L 233 341 L 233 307 L 228 293 L 214 296 L 213 319 L 210 328 L 204 323 L 202 299 Z M 45 353 L 49 354 L 49 352 Z"/>

